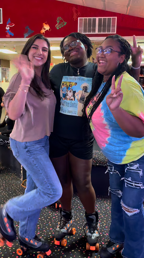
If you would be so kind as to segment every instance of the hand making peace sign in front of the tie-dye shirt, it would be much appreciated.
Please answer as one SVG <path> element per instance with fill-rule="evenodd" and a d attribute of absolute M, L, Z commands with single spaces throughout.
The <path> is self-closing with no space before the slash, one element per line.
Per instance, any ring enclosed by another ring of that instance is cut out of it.
<path fill-rule="evenodd" d="M 106 104 L 108 105 L 110 111 L 114 111 L 119 108 L 122 102 L 123 93 L 121 91 L 123 75 L 120 76 L 117 87 L 115 86 L 115 76 L 112 77 L 112 90 L 111 93 L 106 97 Z"/>

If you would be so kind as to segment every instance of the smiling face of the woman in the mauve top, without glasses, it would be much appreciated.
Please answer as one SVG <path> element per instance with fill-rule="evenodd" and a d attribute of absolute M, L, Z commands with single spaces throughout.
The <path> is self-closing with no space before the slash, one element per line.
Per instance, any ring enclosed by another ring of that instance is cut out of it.
<path fill-rule="evenodd" d="M 48 45 L 46 41 L 36 39 L 28 52 L 28 58 L 35 67 L 43 66 L 48 58 Z"/>

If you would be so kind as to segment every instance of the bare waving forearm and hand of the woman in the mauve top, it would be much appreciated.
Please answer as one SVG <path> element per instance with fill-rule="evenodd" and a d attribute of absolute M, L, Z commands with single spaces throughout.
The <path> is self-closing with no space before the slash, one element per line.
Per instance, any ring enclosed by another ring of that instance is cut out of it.
<path fill-rule="evenodd" d="M 22 81 L 19 90 L 9 102 L 7 107 L 8 116 L 11 120 L 16 120 L 23 114 L 26 96 L 29 89 L 28 85 L 30 85 L 32 79 L 34 78 L 34 67 L 32 66 L 32 63 L 28 61 L 27 56 L 21 55 L 20 58 L 15 61 L 15 65 L 19 69 Z"/>

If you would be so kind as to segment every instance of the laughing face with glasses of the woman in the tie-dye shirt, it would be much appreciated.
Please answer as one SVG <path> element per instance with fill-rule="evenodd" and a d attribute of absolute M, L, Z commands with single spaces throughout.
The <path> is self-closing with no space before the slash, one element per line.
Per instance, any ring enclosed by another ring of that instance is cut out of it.
<path fill-rule="evenodd" d="M 112 38 L 104 40 L 100 47 L 102 49 L 111 48 L 121 52 L 120 43 L 117 40 L 113 40 Z M 102 52 L 100 55 L 96 55 L 98 72 L 102 75 L 110 76 L 116 70 L 118 62 L 122 63 L 124 58 L 124 54 L 121 55 L 115 51 L 112 51 L 109 56 L 105 56 L 104 52 Z"/>

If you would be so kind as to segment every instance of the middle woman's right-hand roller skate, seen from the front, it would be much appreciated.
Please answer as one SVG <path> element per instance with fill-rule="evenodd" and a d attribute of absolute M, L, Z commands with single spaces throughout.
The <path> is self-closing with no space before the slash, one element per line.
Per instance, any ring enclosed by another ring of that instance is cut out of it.
<path fill-rule="evenodd" d="M 83 226 L 83 229 L 84 229 L 84 232 L 86 231 L 85 232 L 86 238 L 87 238 L 86 249 L 98 252 L 99 243 L 97 242 L 98 242 L 98 239 L 100 238 L 98 212 L 96 211 L 91 214 L 87 214 L 85 212 L 85 218 L 87 222 Z"/>

